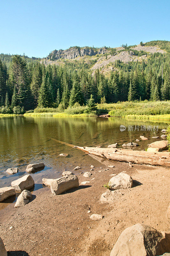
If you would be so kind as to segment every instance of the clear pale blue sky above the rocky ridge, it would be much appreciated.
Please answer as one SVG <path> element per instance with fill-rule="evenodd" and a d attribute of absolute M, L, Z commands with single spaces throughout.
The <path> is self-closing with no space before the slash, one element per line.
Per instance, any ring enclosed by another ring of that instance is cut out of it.
<path fill-rule="evenodd" d="M 45 57 L 70 46 L 170 41 L 169 0 L 0 1 L 0 52 Z"/>

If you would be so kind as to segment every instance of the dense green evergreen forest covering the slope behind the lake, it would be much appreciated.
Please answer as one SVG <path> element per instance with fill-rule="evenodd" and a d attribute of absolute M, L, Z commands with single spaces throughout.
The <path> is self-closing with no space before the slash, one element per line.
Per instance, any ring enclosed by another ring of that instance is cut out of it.
<path fill-rule="evenodd" d="M 94 60 L 90 64 L 75 60 L 64 61 L 63 66 L 45 66 L 25 55 L 0 54 L 0 113 L 22 114 L 36 107 L 66 109 L 75 103 L 86 105 L 91 95 L 96 103 L 170 100 L 170 42 L 145 45 L 158 45 L 166 53 L 149 54 L 141 62 L 117 60 L 110 64 L 114 70 L 109 77 L 100 69 L 92 74 Z"/>

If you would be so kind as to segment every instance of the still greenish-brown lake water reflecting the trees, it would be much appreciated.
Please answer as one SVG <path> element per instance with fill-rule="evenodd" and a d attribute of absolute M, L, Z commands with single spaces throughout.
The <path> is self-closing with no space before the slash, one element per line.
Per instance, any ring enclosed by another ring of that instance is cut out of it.
<path fill-rule="evenodd" d="M 120 131 L 121 124 L 127 127 L 126 131 Z M 141 126 L 146 126 L 146 131 L 141 131 Z M 72 171 L 77 165 L 81 165 L 82 169 L 74 173 L 89 171 L 91 164 L 96 166 L 96 161 L 83 151 L 71 149 L 53 139 L 89 147 L 107 147 L 117 142 L 121 148 L 123 143 L 136 142 L 136 139 L 141 140 L 140 135 L 144 135 L 149 140 L 139 141 L 140 146 L 135 148 L 143 150 L 148 143 L 155 141 L 152 136 L 163 134 L 161 130 L 166 126 L 166 123 L 111 117 L 1 117 L 0 188 L 10 186 L 11 181 L 26 175 L 28 164 L 45 164 L 44 170 L 31 174 L 36 183 L 34 190 L 42 188 L 42 178 L 61 177 L 63 171 Z M 60 153 L 68 153 L 69 157 L 59 157 Z M 6 170 L 11 167 L 18 167 L 19 172 L 8 174 Z"/>

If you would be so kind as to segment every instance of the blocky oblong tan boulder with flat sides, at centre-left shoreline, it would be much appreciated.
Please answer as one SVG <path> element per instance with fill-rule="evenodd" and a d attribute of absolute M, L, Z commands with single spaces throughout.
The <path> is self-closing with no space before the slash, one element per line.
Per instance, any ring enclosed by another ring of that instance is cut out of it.
<path fill-rule="evenodd" d="M 50 188 L 54 195 L 59 195 L 70 188 L 79 186 L 78 177 L 76 175 L 64 176 L 62 178 L 51 181 Z"/>

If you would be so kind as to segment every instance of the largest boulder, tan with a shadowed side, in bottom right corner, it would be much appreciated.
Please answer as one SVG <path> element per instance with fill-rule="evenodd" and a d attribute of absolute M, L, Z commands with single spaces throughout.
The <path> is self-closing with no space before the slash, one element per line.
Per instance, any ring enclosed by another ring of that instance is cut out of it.
<path fill-rule="evenodd" d="M 138 223 L 122 232 L 110 256 L 157 256 L 169 250 L 170 234 Z"/>

